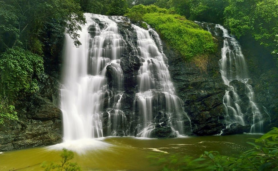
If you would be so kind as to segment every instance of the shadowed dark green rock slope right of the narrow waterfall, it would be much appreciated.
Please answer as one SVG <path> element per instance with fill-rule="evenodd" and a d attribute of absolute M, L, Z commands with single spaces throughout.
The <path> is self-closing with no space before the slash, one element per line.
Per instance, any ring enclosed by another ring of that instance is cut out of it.
<path fill-rule="evenodd" d="M 256 103 L 264 117 L 264 132 L 268 132 L 271 128 L 278 127 L 277 61 L 258 42 L 250 43 L 248 37 L 241 38 L 240 43 L 249 65 Z"/>

